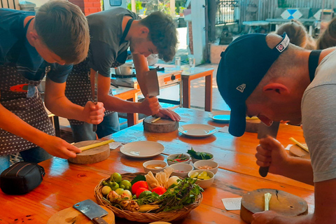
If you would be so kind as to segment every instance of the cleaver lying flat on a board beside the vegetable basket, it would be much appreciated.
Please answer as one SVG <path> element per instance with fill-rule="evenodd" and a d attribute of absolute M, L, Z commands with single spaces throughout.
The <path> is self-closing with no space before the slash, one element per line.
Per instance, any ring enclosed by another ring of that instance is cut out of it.
<path fill-rule="evenodd" d="M 87 218 L 90 218 L 93 223 L 109 224 L 102 218 L 102 216 L 106 216 L 109 213 L 90 199 L 73 204 L 73 208 L 83 213 Z"/>

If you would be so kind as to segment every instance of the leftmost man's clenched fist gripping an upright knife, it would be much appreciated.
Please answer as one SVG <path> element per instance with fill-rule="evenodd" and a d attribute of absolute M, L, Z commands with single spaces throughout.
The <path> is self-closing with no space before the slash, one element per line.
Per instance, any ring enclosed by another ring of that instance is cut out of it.
<path fill-rule="evenodd" d="M 93 102 L 87 102 L 83 110 L 84 121 L 93 125 L 98 125 L 104 119 L 104 104 L 98 102 L 94 104 Z"/>

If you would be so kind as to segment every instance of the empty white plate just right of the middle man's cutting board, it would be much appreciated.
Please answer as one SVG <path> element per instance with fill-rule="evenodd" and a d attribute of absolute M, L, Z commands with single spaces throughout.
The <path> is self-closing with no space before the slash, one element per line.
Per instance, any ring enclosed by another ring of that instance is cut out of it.
<path fill-rule="evenodd" d="M 191 137 L 207 137 L 218 130 L 211 125 L 183 125 L 179 127 L 179 132 Z"/>

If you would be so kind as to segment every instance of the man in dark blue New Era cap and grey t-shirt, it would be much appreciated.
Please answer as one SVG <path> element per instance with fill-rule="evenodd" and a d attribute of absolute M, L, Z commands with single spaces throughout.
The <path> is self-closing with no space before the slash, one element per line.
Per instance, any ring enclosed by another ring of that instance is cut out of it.
<path fill-rule="evenodd" d="M 266 125 L 300 124 L 311 162 L 290 157 L 267 137 L 257 146 L 257 164 L 269 172 L 315 186 L 314 214 L 285 217 L 274 211 L 253 215 L 253 224 L 336 223 L 336 51 L 305 50 L 288 36 L 248 34 L 233 41 L 218 66 L 218 90 L 231 108 L 230 134 L 240 137 L 246 116 Z M 241 66 L 244 63 L 244 66 Z"/>

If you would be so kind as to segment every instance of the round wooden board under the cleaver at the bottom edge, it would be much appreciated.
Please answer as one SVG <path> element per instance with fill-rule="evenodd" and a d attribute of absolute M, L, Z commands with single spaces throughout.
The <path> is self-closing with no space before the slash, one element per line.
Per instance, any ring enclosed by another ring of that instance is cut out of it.
<path fill-rule="evenodd" d="M 107 209 L 104 206 L 102 207 L 109 214 L 103 216 L 102 218 L 109 224 L 115 224 L 115 217 L 113 211 Z M 81 214 L 80 211 L 73 209 L 73 207 L 63 209 L 62 211 L 57 212 L 51 216 L 47 224 L 92 224 L 93 222 L 90 218 L 87 218 L 85 215 Z"/>

